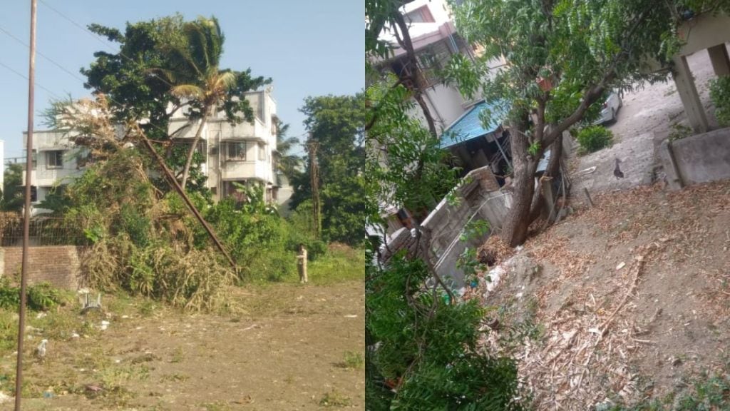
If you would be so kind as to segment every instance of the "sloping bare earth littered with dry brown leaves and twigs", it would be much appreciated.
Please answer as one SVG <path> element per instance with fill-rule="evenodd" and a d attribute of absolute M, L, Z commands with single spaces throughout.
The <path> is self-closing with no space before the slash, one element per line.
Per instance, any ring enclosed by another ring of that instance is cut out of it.
<path fill-rule="evenodd" d="M 491 293 L 475 290 L 493 308 L 484 344 L 518 359 L 538 410 L 663 398 L 727 369 L 730 182 L 594 203 L 531 238 Z"/>

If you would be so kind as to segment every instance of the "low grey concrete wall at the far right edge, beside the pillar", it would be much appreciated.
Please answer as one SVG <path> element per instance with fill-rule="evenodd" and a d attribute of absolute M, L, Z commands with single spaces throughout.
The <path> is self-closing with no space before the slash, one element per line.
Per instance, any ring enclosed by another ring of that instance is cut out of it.
<path fill-rule="evenodd" d="M 730 128 L 664 139 L 659 157 L 670 189 L 730 178 Z"/>

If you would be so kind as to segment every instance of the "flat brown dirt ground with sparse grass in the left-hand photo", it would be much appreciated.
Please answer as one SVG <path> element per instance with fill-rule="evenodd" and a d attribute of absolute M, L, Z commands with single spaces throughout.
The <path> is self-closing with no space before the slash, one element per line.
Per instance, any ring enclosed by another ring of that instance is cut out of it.
<path fill-rule="evenodd" d="M 112 301 L 106 331 L 28 351 L 23 409 L 364 410 L 363 287 L 239 288 L 227 315 Z"/>

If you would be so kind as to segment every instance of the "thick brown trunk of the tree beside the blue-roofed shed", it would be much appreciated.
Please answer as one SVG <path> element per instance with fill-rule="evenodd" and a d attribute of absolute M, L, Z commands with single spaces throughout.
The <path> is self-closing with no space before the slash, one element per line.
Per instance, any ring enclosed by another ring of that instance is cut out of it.
<path fill-rule="evenodd" d="M 527 239 L 527 229 L 530 226 L 530 211 L 535 192 L 535 170 L 542 157 L 542 149 L 536 155 L 527 151 L 530 143 L 522 130 L 523 124 L 513 124 L 510 127 L 512 137 L 512 163 L 515 167 L 515 180 L 512 184 L 512 208 L 507 213 L 507 219 L 502 226 L 502 239 L 510 246 L 523 244 Z"/>

